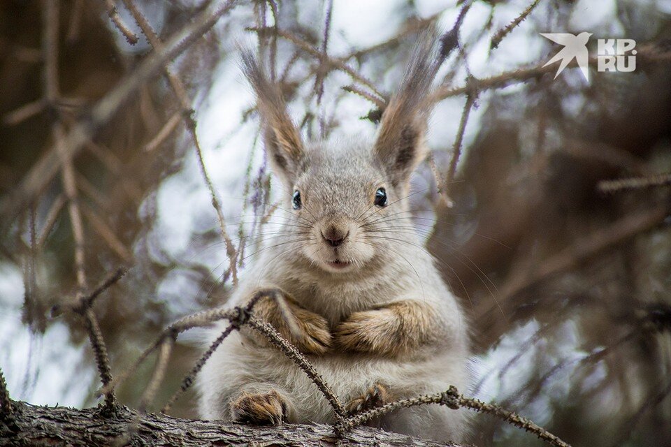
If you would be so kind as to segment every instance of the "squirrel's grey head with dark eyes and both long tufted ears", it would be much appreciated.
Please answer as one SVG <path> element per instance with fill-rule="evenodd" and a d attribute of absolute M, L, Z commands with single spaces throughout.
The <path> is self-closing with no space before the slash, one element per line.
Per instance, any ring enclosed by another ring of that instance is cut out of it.
<path fill-rule="evenodd" d="M 426 156 L 426 96 L 438 70 L 419 45 L 403 85 L 382 113 L 372 144 L 305 144 L 289 118 L 280 89 L 250 53 L 243 68 L 257 94 L 268 161 L 284 186 L 281 207 L 289 250 L 327 272 L 366 268 L 408 239 L 410 175 Z"/>

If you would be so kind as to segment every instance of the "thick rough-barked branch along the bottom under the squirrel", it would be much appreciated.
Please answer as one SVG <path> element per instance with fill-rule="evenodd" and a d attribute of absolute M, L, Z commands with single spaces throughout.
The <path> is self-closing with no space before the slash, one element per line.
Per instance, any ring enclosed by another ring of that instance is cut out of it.
<path fill-rule="evenodd" d="M 0 421 L 0 446 L 330 446 L 338 441 L 329 425 L 254 427 L 162 414 L 142 416 L 129 439 L 129 427 L 135 426 L 138 414 L 127 407 L 119 407 L 115 414 L 106 416 L 101 409 L 13 404 L 14 423 Z M 340 440 L 357 446 L 461 447 L 370 427 L 356 428 Z"/>

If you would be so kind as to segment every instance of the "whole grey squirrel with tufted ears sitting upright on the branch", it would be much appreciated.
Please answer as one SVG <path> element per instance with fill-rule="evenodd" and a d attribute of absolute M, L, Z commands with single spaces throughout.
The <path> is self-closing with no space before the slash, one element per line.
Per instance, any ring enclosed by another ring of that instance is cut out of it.
<path fill-rule="evenodd" d="M 407 397 L 468 388 L 469 325 L 412 228 L 410 176 L 426 157 L 427 101 L 440 66 L 419 39 L 373 142 L 304 142 L 282 94 L 251 52 L 243 71 L 257 96 L 264 146 L 291 207 L 233 291 L 322 374 L 349 413 Z M 297 333 L 297 331 L 299 333 Z M 215 338 L 221 329 L 212 332 Z M 205 419 L 333 423 L 329 402 L 264 337 L 233 331 L 199 374 Z M 460 441 L 464 410 L 416 406 L 381 416 L 384 430 Z"/>

